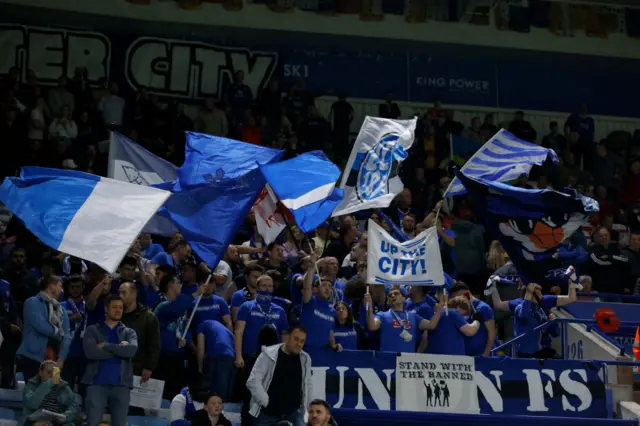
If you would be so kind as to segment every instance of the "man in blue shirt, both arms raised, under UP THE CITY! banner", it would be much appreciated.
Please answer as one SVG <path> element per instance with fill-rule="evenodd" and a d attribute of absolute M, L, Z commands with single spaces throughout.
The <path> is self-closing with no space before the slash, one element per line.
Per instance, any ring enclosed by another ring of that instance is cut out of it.
<path fill-rule="evenodd" d="M 389 291 L 389 310 L 373 314 L 373 300 L 369 293 L 364 295 L 363 302 L 367 309 L 367 325 L 369 330 L 380 330 L 380 350 L 386 352 L 415 352 L 416 338 L 420 339 L 420 331 L 433 330 L 440 321 L 442 311 L 436 305 L 433 318 L 427 320 L 415 311 L 405 309 L 405 297 L 402 291 L 393 287 Z"/>

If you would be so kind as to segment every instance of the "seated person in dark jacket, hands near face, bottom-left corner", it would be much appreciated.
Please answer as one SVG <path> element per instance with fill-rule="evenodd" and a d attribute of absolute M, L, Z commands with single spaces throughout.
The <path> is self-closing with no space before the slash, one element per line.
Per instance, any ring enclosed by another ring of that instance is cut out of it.
<path fill-rule="evenodd" d="M 27 380 L 22 399 L 22 419 L 20 425 L 65 424 L 76 422 L 78 413 L 78 398 L 67 382 L 60 378 L 60 368 L 54 361 L 44 361 L 40 364 L 38 374 Z M 47 410 L 61 414 L 65 420 L 34 421 L 29 416 L 39 410 Z"/>

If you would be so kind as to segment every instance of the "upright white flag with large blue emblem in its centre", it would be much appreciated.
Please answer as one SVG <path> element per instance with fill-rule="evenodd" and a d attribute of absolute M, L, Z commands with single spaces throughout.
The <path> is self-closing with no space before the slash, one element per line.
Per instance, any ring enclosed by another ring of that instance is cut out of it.
<path fill-rule="evenodd" d="M 404 189 L 398 169 L 413 145 L 416 121 L 364 119 L 340 181 L 344 200 L 333 216 L 389 207 Z"/>

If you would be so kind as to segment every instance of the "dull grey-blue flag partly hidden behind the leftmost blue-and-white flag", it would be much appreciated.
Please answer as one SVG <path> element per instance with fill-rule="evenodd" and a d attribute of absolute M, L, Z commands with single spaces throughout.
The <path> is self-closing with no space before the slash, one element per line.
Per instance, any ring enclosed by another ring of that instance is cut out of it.
<path fill-rule="evenodd" d="M 153 155 L 120 133 L 111 132 L 107 174 L 111 179 L 149 186 L 174 181 L 177 175 L 178 168 L 173 164 Z M 178 229 L 169 219 L 156 215 L 144 227 L 144 232 L 171 236 Z"/>

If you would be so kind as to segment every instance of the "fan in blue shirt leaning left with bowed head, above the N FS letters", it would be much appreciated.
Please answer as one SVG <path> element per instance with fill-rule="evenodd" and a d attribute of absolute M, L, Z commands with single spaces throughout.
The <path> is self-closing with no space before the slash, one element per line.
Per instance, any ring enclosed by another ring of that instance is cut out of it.
<path fill-rule="evenodd" d="M 466 338 L 465 352 L 469 356 L 490 356 L 491 349 L 496 341 L 496 323 L 493 319 L 493 309 L 482 300 L 475 298 L 469 291 L 469 287 L 461 281 L 457 281 L 451 289 L 451 296 L 463 296 L 469 301 L 471 310 L 470 320 L 478 320 L 480 329 L 478 332 Z"/>

